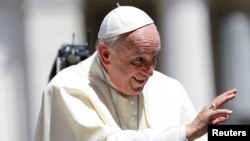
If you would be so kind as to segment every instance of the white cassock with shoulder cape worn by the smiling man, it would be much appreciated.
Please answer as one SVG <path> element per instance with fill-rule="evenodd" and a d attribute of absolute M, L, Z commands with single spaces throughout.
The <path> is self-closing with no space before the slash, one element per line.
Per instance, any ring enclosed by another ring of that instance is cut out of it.
<path fill-rule="evenodd" d="M 183 141 L 195 115 L 183 86 L 158 71 L 142 94 L 122 96 L 95 52 L 45 88 L 35 141 Z"/>

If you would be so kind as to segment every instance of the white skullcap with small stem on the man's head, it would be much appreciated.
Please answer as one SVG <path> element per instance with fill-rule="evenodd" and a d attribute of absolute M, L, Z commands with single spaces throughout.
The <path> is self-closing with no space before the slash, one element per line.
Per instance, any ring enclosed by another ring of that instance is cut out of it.
<path fill-rule="evenodd" d="M 118 6 L 103 19 L 98 38 L 114 37 L 153 22 L 148 14 L 136 7 Z"/>

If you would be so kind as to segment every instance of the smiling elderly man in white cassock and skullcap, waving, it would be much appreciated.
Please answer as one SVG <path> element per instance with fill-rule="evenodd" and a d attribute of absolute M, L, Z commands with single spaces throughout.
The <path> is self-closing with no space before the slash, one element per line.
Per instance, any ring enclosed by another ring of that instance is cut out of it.
<path fill-rule="evenodd" d="M 160 36 L 138 8 L 118 6 L 108 13 L 96 48 L 45 88 L 36 141 L 195 140 L 208 124 L 222 123 L 232 113 L 219 108 L 236 89 L 196 114 L 183 86 L 154 70 Z"/>

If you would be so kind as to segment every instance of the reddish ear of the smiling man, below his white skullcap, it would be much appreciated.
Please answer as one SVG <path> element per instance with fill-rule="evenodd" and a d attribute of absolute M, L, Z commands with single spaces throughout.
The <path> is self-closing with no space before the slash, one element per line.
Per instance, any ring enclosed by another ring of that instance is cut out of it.
<path fill-rule="evenodd" d="M 108 46 L 105 45 L 104 43 L 100 43 L 98 45 L 98 51 L 99 51 L 100 60 L 102 64 L 105 66 L 110 64 L 110 50 Z"/>

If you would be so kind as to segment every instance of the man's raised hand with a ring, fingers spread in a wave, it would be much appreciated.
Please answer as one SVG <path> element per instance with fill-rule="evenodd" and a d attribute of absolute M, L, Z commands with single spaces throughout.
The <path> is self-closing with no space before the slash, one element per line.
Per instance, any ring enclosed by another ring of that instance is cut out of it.
<path fill-rule="evenodd" d="M 196 118 L 186 126 L 186 137 L 189 141 L 201 137 L 207 132 L 208 124 L 220 124 L 225 122 L 232 110 L 220 109 L 225 103 L 235 98 L 236 89 L 231 89 L 212 100 L 204 106 Z"/>

